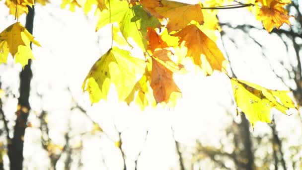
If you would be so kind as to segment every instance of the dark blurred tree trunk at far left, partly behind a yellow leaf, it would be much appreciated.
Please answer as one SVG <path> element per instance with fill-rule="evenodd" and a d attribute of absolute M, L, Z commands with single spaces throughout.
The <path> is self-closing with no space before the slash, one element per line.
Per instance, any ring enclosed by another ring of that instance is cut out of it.
<path fill-rule="evenodd" d="M 26 16 L 26 29 L 32 34 L 34 21 L 34 6 L 28 6 L 28 14 Z M 8 157 L 10 161 L 10 170 L 22 170 L 23 163 L 23 142 L 24 133 L 27 123 L 27 117 L 30 110 L 29 92 L 30 81 L 32 78 L 31 60 L 28 60 L 28 65 L 22 69 L 20 73 L 20 96 L 18 98 L 17 118 L 14 126 L 13 138 L 8 141 Z"/>

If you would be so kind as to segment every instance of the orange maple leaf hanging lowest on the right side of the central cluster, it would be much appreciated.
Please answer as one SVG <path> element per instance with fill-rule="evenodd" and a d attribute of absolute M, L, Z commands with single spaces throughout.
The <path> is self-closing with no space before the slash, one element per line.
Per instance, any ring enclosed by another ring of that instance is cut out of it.
<path fill-rule="evenodd" d="M 204 69 L 208 75 L 212 75 L 213 70 L 226 70 L 227 61 L 223 53 L 196 25 L 188 25 L 174 36 L 180 37 L 179 45 L 185 41 L 184 45 L 188 48 L 187 56 L 192 57 L 194 64 Z"/>

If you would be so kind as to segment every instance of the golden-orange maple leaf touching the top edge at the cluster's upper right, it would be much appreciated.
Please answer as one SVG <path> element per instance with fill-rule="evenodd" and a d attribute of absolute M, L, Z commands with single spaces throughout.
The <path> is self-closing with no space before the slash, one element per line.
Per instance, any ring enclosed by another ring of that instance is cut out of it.
<path fill-rule="evenodd" d="M 151 0 L 157 1 L 157 0 Z M 144 5 L 144 4 L 143 4 Z M 204 23 L 203 14 L 200 4 L 187 4 L 170 0 L 161 0 L 159 5 L 152 8 L 152 5 L 148 6 L 148 9 L 153 15 L 159 15 L 161 17 L 169 18 L 167 23 L 168 32 L 178 31 L 186 27 L 192 20 L 195 20 L 199 24 Z M 151 10 L 152 9 L 152 10 Z"/>

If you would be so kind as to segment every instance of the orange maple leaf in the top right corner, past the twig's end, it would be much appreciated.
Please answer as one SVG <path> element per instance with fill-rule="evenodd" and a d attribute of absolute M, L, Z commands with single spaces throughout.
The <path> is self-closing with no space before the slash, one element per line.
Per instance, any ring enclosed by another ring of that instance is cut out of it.
<path fill-rule="evenodd" d="M 290 24 L 289 17 L 291 16 L 283 8 L 286 4 L 288 3 L 272 0 L 269 6 L 264 5 L 260 8 L 259 16 L 261 16 L 263 26 L 268 32 L 271 32 L 275 26 L 279 29 L 283 23 Z"/>

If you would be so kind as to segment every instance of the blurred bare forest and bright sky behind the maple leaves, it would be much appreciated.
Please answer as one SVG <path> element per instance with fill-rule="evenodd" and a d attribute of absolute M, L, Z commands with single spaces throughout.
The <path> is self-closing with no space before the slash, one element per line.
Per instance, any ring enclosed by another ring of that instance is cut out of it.
<path fill-rule="evenodd" d="M 32 64 L 0 65 L 1 170 L 302 169 L 301 115 L 272 110 L 272 124 L 252 129 L 219 73 L 176 75 L 183 98 L 173 109 L 118 103 L 113 88 L 107 102 L 91 106 L 80 87 L 110 48 L 110 28 L 95 32 L 93 13 L 60 3 L 37 4 L 34 17 L 31 10 L 19 19 L 42 45 L 33 47 Z M 290 89 L 301 106 L 302 1 L 287 9 L 291 25 L 270 34 L 246 9 L 221 10 L 218 44 L 233 76 Z M 0 30 L 14 22 L 8 13 L 0 1 Z"/>

